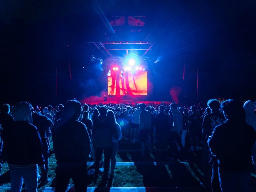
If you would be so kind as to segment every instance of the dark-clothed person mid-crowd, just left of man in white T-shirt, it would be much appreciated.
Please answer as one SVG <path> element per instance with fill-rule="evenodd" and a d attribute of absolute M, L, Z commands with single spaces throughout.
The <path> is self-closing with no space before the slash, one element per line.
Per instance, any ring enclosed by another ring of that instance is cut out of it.
<path fill-rule="evenodd" d="M 156 127 L 156 148 L 164 150 L 167 147 L 167 140 L 170 131 L 169 127 L 169 115 L 164 113 L 165 107 L 163 105 L 159 106 L 159 113 L 155 117 L 155 127 Z"/>

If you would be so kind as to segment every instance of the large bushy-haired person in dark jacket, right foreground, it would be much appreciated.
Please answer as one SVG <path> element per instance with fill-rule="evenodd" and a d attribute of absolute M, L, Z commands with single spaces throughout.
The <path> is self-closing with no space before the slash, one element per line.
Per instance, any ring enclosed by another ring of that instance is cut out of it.
<path fill-rule="evenodd" d="M 251 181 L 251 150 L 256 131 L 245 121 L 245 112 L 238 101 L 221 103 L 226 118 L 214 128 L 208 140 L 211 152 L 218 160 L 219 182 L 222 192 L 246 192 Z"/>

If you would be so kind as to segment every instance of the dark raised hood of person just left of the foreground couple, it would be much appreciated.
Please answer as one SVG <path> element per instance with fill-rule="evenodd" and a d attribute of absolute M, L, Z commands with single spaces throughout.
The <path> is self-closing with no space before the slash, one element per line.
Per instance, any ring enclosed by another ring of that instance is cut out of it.
<path fill-rule="evenodd" d="M 81 109 L 82 109 L 82 106 L 79 101 L 68 100 L 63 108 L 62 119 L 63 120 L 68 120 L 68 119 L 78 120 L 78 118 L 81 115 Z"/>

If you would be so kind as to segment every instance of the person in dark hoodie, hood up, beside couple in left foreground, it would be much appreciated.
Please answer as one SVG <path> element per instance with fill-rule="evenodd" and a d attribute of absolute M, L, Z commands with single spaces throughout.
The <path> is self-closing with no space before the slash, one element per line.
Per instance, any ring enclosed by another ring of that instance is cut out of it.
<path fill-rule="evenodd" d="M 78 121 L 82 106 L 77 100 L 68 100 L 62 118 L 52 128 L 56 167 L 55 192 L 66 191 L 72 178 L 75 191 L 86 191 L 87 161 L 91 153 L 91 140 L 85 124 Z"/>

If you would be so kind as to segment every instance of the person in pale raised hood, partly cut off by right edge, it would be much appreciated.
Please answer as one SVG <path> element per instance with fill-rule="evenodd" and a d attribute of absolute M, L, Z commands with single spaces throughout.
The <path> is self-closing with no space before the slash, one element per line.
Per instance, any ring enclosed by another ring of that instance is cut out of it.
<path fill-rule="evenodd" d="M 246 101 L 244 103 L 243 109 L 245 111 L 245 121 L 248 125 L 251 125 L 254 130 L 256 131 L 256 114 L 254 113 L 254 102 L 253 101 Z M 252 148 L 252 155 L 254 160 L 254 170 L 256 171 L 256 143 Z"/>

